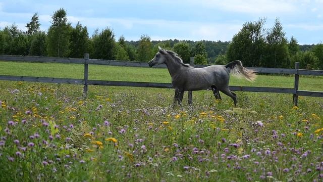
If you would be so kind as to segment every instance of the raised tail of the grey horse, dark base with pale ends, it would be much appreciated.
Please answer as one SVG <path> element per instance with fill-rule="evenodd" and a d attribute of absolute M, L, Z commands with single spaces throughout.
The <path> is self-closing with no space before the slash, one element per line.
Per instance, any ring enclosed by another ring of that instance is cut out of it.
<path fill-rule="evenodd" d="M 230 68 L 230 73 L 238 77 L 244 77 L 248 81 L 252 82 L 256 79 L 256 74 L 253 70 L 247 69 L 242 66 L 241 61 L 232 61 L 225 65 L 226 68 Z"/>

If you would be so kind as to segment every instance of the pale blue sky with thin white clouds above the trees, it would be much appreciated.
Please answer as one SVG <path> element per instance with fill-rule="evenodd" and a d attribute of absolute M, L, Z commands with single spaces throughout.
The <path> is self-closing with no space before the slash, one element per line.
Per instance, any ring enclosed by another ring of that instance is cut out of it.
<path fill-rule="evenodd" d="M 13 23 L 26 30 L 38 13 L 40 29 L 46 31 L 51 16 L 60 8 L 75 26 L 87 26 L 89 36 L 95 29 L 109 27 L 116 40 L 213 40 L 230 41 L 243 23 L 265 18 L 270 29 L 279 18 L 289 40 L 299 44 L 323 42 L 323 0 L 1 0 L 0 29 Z"/>

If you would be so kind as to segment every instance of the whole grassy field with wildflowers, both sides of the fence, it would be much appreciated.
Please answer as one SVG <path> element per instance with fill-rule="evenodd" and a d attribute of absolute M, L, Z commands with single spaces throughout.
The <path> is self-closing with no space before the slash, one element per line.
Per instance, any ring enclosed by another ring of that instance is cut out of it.
<path fill-rule="evenodd" d="M 82 65 L 0 63 L 0 74 L 82 78 Z M 170 82 L 166 69 L 89 66 L 90 79 Z M 292 76 L 255 83 L 293 87 Z M 321 77 L 300 87 L 323 90 Z M 320 181 L 323 99 L 0 81 L 0 181 Z M 185 96 L 187 98 L 187 96 Z"/>

